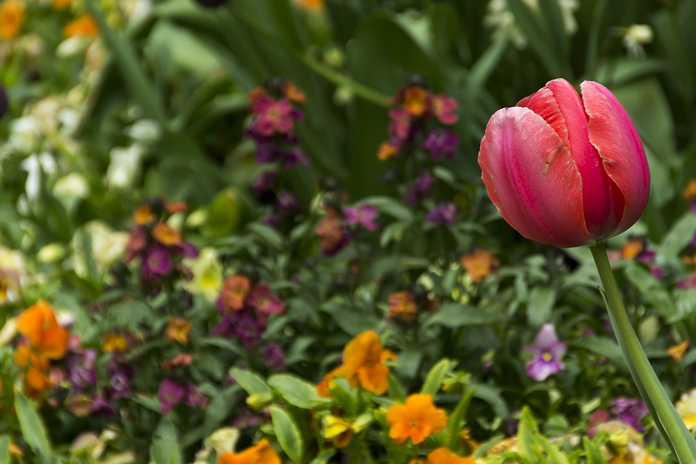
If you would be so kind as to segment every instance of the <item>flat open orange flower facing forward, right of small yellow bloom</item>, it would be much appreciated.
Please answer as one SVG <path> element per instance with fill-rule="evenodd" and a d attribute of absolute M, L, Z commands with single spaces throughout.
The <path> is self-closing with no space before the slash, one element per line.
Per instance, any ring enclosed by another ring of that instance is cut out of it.
<path fill-rule="evenodd" d="M 405 404 L 389 408 L 387 423 L 391 426 L 389 437 L 397 445 L 403 445 L 409 438 L 413 445 L 418 445 L 433 433 L 445 429 L 447 415 L 435 407 L 429 394 L 415 393 L 406 398 Z"/>

